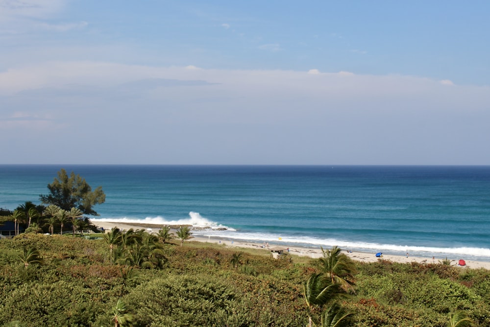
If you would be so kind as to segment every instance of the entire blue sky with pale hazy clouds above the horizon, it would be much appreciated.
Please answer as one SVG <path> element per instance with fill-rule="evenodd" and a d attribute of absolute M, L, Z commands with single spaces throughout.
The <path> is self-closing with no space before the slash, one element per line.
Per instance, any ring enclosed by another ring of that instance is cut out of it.
<path fill-rule="evenodd" d="M 489 1 L 0 0 L 0 164 L 490 165 Z"/>

